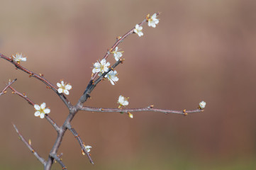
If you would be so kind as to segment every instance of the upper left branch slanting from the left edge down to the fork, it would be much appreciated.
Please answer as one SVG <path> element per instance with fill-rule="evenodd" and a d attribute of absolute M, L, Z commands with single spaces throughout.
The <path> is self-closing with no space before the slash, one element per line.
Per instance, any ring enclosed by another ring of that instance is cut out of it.
<path fill-rule="evenodd" d="M 65 103 L 65 105 L 67 106 L 67 108 L 71 108 L 72 107 L 72 105 L 71 105 L 71 103 L 67 100 L 67 98 L 65 97 L 65 95 L 64 94 L 59 94 L 58 92 L 57 92 L 57 88 L 55 87 L 55 86 L 53 86 L 51 83 L 50 83 L 50 81 L 48 81 L 47 79 L 45 79 L 44 77 L 43 77 L 43 74 L 35 74 L 34 72 L 31 72 L 30 70 L 28 70 L 28 69 L 26 69 L 25 67 L 22 67 L 21 66 L 21 64 L 18 64 L 18 62 L 14 62 L 13 60 L 12 60 L 12 58 L 9 58 L 9 57 L 6 57 L 5 55 L 2 55 L 1 53 L 0 53 L 0 58 L 2 58 L 2 59 L 4 59 L 4 60 L 6 60 L 6 61 L 8 61 L 8 62 L 11 62 L 11 64 L 13 64 L 17 69 L 21 69 L 21 71 L 23 71 L 23 72 L 26 72 L 28 75 L 29 75 L 29 77 L 35 77 L 35 79 L 38 79 L 38 80 L 40 80 L 40 81 L 42 81 L 44 84 L 46 84 L 50 89 L 52 89 L 53 91 L 55 91 L 55 93 L 62 99 L 62 101 Z"/>

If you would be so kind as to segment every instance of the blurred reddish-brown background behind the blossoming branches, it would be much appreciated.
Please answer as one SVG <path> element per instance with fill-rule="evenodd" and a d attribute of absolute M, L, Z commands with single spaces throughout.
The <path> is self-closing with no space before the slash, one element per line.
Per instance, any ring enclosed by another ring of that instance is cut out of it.
<path fill-rule="evenodd" d="M 91 69 L 115 38 L 160 11 L 157 28 L 143 27 L 120 47 L 124 64 L 115 86 L 103 81 L 86 106 L 116 108 L 119 95 L 128 108 L 194 109 L 204 113 L 165 115 L 78 113 L 72 126 L 91 145 L 91 165 L 67 132 L 59 154 L 68 169 L 256 169 L 256 1 L 244 0 L 2 0 L 0 52 L 23 52 L 21 64 L 56 84 L 72 84 L 77 103 Z M 113 63 L 113 57 L 109 57 Z M 58 96 L 40 81 L 0 60 L 1 89 L 13 87 L 35 103 L 46 102 L 61 125 L 68 114 Z M 0 97 L 0 169 L 43 169 L 18 140 L 15 123 L 47 159 L 56 132 L 34 109 L 9 90 Z M 52 169 L 61 169 L 54 164 Z"/>

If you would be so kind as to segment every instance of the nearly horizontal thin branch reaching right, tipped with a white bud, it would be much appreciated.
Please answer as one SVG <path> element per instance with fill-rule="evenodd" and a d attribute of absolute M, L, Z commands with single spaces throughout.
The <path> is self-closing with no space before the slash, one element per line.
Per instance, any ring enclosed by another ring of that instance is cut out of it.
<path fill-rule="evenodd" d="M 153 106 L 148 106 L 146 108 L 126 108 L 126 109 L 120 109 L 120 108 L 91 108 L 83 106 L 82 108 L 79 108 L 81 111 L 91 111 L 91 112 L 120 112 L 120 113 L 130 113 L 130 112 L 140 112 L 140 111 L 153 111 L 153 112 L 160 112 L 160 113 L 174 113 L 174 114 L 180 114 L 180 115 L 187 115 L 188 113 L 200 113 L 204 110 L 201 110 L 200 108 L 197 108 L 195 110 L 186 111 L 184 109 L 183 111 L 172 111 L 167 109 L 160 109 L 160 108 L 152 108 Z"/>

